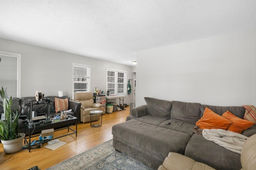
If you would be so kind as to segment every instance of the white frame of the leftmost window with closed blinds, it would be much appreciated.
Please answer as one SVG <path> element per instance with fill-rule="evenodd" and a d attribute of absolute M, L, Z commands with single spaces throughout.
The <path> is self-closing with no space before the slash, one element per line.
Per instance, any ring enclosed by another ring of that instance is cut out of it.
<path fill-rule="evenodd" d="M 17 59 L 17 84 L 16 84 L 17 88 L 16 88 L 16 96 L 8 94 L 8 90 L 7 90 L 6 93 L 7 93 L 8 97 L 12 96 L 12 98 L 14 98 L 14 97 L 21 98 L 21 54 L 0 51 L 0 57 L 1 56 L 14 57 L 14 58 Z M 1 68 L 0 68 L 0 71 L 2 72 Z M 2 86 L 0 88 L 2 88 Z"/>

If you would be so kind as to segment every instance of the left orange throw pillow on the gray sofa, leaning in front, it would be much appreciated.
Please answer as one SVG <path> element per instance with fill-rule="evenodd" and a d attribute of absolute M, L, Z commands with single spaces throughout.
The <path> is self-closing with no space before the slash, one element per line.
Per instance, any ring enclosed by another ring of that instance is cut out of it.
<path fill-rule="evenodd" d="M 224 129 L 227 130 L 228 127 L 232 124 L 229 120 L 221 117 L 217 113 L 214 113 L 208 107 L 204 110 L 204 115 L 196 122 L 196 125 L 200 127 L 200 129 Z"/>

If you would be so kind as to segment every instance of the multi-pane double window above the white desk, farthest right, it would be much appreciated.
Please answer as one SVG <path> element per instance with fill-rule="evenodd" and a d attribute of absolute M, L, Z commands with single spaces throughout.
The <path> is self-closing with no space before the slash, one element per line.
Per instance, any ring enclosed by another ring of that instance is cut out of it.
<path fill-rule="evenodd" d="M 107 68 L 107 90 L 110 91 L 110 94 L 127 94 L 126 74 L 126 71 Z"/>

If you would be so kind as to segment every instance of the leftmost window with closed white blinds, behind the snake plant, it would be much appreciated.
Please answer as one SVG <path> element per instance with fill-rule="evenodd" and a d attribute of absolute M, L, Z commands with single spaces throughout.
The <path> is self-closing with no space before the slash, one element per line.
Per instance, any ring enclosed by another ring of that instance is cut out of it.
<path fill-rule="evenodd" d="M 21 55 L 0 51 L 0 88 L 10 98 L 20 98 Z"/>

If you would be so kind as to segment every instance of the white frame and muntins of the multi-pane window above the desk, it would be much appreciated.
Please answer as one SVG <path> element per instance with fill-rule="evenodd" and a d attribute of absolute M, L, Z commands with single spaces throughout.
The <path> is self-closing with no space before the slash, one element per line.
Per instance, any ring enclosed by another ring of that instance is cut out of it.
<path fill-rule="evenodd" d="M 108 82 L 108 77 L 113 77 L 113 76 L 108 76 L 108 71 L 112 71 L 115 72 L 114 75 L 114 82 Z M 118 73 L 123 73 L 124 77 L 118 77 Z M 118 78 L 123 78 L 124 82 L 118 82 Z M 127 88 L 126 88 L 126 84 L 127 84 L 127 71 L 126 70 L 116 70 L 116 69 L 112 69 L 112 68 L 107 68 L 106 71 L 106 92 L 108 91 L 108 83 L 114 84 L 114 95 L 115 96 L 119 96 L 119 95 L 127 95 Z M 118 92 L 118 84 L 124 84 L 124 92 Z M 110 93 L 111 95 L 113 95 L 112 93 Z"/>

